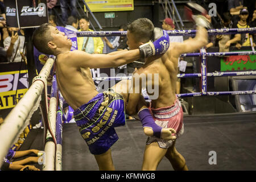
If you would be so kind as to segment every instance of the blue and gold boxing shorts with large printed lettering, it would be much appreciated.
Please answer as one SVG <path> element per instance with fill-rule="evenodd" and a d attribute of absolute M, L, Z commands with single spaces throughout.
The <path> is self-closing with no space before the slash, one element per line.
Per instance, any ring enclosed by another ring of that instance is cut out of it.
<path fill-rule="evenodd" d="M 110 91 L 98 93 L 74 111 L 74 118 L 90 152 L 103 154 L 118 140 L 114 127 L 125 125 L 123 97 Z"/>

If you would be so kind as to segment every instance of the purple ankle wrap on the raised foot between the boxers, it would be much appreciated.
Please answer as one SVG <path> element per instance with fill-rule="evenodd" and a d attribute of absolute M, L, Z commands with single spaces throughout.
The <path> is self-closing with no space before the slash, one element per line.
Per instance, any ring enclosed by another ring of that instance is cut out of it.
<path fill-rule="evenodd" d="M 139 111 L 138 113 L 139 119 L 141 119 L 141 123 L 143 127 L 150 127 L 153 132 L 154 136 L 160 138 L 162 127 L 156 125 L 155 120 L 153 119 L 152 115 L 150 114 L 150 110 L 145 108 Z"/>

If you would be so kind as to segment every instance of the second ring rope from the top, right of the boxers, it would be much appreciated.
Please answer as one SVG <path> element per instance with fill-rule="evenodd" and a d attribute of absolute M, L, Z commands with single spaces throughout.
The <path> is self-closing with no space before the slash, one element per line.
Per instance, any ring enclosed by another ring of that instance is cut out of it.
<path fill-rule="evenodd" d="M 256 51 L 238 51 L 238 52 L 207 52 L 207 56 L 238 56 L 238 55 L 256 55 Z M 200 56 L 200 52 L 183 53 L 181 57 Z"/>

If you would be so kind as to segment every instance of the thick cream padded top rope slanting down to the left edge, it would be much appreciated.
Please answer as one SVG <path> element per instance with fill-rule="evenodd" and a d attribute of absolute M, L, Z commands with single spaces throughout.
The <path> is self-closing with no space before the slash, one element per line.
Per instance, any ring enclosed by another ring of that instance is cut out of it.
<path fill-rule="evenodd" d="M 10 111 L 5 121 L 0 126 L 0 159 L 3 159 L 10 147 L 18 139 L 18 134 L 26 127 L 26 119 L 32 115 L 33 107 L 39 106 L 39 97 L 43 90 L 47 88 L 47 78 L 51 72 L 54 63 L 53 57 L 49 57 L 40 71 L 39 75 L 33 79 L 33 82 L 18 104 Z M 6 137 L 8 136 L 8 137 Z M 2 166 L 3 160 L 0 160 Z"/>

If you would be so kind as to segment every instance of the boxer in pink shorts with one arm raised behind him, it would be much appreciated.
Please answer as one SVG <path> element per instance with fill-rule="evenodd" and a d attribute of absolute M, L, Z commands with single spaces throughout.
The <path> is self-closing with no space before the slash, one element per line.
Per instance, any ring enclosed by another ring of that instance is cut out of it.
<path fill-rule="evenodd" d="M 131 84 L 130 89 L 141 90 L 143 87 L 148 89 L 148 85 L 151 88 L 158 87 L 158 98 L 151 99 L 148 108 L 146 106 L 141 108 L 138 106 L 138 103 L 143 101 L 141 93 L 131 92 L 127 105 L 127 114 L 134 115 L 138 112 L 139 117 L 142 118 L 142 124 L 143 118 L 148 118 L 148 115 L 151 114 L 158 126 L 175 129 L 176 133 L 173 135 L 176 138 L 183 134 L 183 110 L 175 95 L 178 59 L 182 53 L 197 51 L 208 43 L 206 27 L 209 27 L 209 22 L 203 15 L 194 15 L 193 19 L 195 19 L 197 25 L 195 38 L 185 40 L 182 43 L 170 42 L 170 47 L 164 55 L 156 60 L 146 59 L 143 67 L 133 73 L 131 81 L 135 82 L 137 79 L 140 82 L 139 84 Z M 127 45 L 130 49 L 138 48 L 143 42 L 150 39 L 144 38 L 139 31 L 146 27 L 146 23 L 151 24 L 152 22 L 150 20 L 148 22 L 139 21 L 140 19 L 135 20 L 128 26 Z M 158 79 L 152 76 L 154 74 L 158 75 Z M 143 82 L 143 75 L 147 77 L 146 83 Z M 150 95 L 150 93 L 148 94 Z M 134 107 L 135 105 L 137 107 Z M 164 140 L 154 137 L 148 125 L 143 125 L 143 129 L 144 133 L 151 137 L 148 137 L 146 142 L 142 170 L 156 170 L 164 156 L 171 162 L 175 170 L 188 170 L 184 157 L 175 148 L 176 139 Z"/>

